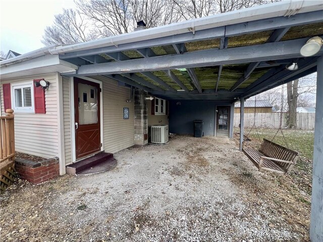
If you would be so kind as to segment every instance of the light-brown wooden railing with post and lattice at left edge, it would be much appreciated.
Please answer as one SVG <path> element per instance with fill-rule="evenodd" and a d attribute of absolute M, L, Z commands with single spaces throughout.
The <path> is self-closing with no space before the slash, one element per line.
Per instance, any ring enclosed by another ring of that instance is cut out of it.
<path fill-rule="evenodd" d="M 14 110 L 7 109 L 6 116 L 0 117 L 0 171 L 1 190 L 9 186 L 15 174 L 15 124 Z"/>

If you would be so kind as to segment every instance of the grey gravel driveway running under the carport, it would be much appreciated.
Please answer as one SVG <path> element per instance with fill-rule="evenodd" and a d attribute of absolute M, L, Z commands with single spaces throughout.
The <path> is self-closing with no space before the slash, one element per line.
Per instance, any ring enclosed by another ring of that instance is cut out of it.
<path fill-rule="evenodd" d="M 28 241 L 307 239 L 306 226 L 290 220 L 284 191 L 228 138 L 175 136 L 115 158 L 115 169 L 70 177 L 67 189 L 36 205 L 51 225 L 39 225 Z"/>

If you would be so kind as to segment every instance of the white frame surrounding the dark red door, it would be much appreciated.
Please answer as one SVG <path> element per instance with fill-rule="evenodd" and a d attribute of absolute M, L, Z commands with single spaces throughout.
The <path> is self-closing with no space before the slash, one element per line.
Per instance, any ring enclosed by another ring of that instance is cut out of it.
<path fill-rule="evenodd" d="M 100 139 L 101 139 L 101 151 L 103 151 L 103 147 L 104 147 L 104 144 L 103 144 L 103 85 L 102 85 L 102 81 L 98 81 L 98 80 L 95 80 L 93 78 L 89 78 L 89 77 L 79 77 L 81 79 L 84 79 L 86 81 L 90 81 L 90 82 L 94 82 L 94 83 L 98 83 L 100 85 L 100 89 L 102 90 L 101 91 L 101 95 L 100 95 Z M 100 90 L 97 90 L 97 91 L 100 91 Z M 85 157 L 82 157 L 78 160 L 76 160 L 76 150 L 75 150 L 75 113 L 74 113 L 74 78 L 73 77 L 70 77 L 70 110 L 71 110 L 71 149 L 72 149 L 72 163 L 74 162 L 77 162 L 77 161 L 80 161 L 80 160 L 83 160 L 89 156 L 92 156 L 93 154 L 91 155 L 88 155 L 88 156 L 85 156 Z"/>

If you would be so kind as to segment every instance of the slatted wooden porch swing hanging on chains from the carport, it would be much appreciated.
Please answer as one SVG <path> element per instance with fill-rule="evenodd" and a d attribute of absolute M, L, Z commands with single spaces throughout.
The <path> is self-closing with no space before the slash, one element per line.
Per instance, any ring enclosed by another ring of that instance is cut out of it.
<path fill-rule="evenodd" d="M 298 159 L 298 152 L 293 151 L 289 148 L 281 146 L 279 144 L 274 143 L 274 139 L 277 137 L 279 131 L 282 133 L 284 142 L 288 147 L 286 142 L 282 123 L 283 123 L 283 106 L 284 106 L 284 89 L 282 86 L 282 95 L 281 95 L 281 110 L 280 110 L 280 123 L 279 129 L 277 130 L 276 134 L 271 140 L 263 139 L 260 145 L 259 150 L 244 148 L 244 141 L 242 142 L 242 151 L 245 155 L 252 161 L 252 163 L 260 170 L 270 170 L 281 174 L 289 174 L 293 169 L 296 161 Z M 261 141 L 258 130 L 255 125 L 255 117 L 256 117 L 256 99 L 254 105 L 254 120 L 253 126 L 249 130 L 248 134 L 246 135 L 247 139 L 248 135 L 252 131 L 252 129 L 256 130 L 256 134 L 258 136 L 259 141 Z"/>

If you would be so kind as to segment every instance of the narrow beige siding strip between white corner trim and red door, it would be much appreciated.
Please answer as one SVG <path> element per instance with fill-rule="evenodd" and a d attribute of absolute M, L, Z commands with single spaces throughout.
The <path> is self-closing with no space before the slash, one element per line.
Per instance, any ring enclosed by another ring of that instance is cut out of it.
<path fill-rule="evenodd" d="M 65 164 L 72 163 L 72 144 L 71 144 L 71 99 L 70 99 L 70 79 L 63 77 L 63 115 L 64 115 L 64 147 Z"/>

